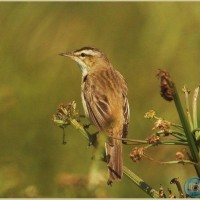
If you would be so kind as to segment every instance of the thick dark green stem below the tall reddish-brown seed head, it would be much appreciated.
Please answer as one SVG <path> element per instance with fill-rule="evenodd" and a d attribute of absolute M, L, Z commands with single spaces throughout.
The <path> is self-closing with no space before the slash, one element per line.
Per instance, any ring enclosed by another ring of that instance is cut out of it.
<path fill-rule="evenodd" d="M 189 125 L 189 123 L 188 123 L 188 121 L 186 119 L 186 116 L 184 114 L 183 107 L 181 105 L 181 101 L 180 101 L 177 89 L 176 89 L 174 83 L 169 83 L 169 84 L 172 86 L 173 91 L 174 91 L 174 103 L 175 103 L 176 109 L 178 111 L 179 118 L 180 118 L 180 121 L 182 123 L 183 129 L 184 129 L 184 132 L 185 132 L 185 136 L 186 136 L 187 141 L 188 141 L 188 146 L 189 146 L 189 149 L 190 149 L 190 152 L 191 152 L 191 156 L 192 156 L 192 159 L 193 159 L 192 161 L 197 163 L 197 164 L 199 164 L 198 147 L 197 147 L 195 139 L 194 139 L 194 137 L 192 135 L 192 131 L 190 129 L 190 125 Z M 200 177 L 200 168 L 199 168 L 199 166 L 195 166 L 195 169 L 196 169 L 197 175 Z"/>

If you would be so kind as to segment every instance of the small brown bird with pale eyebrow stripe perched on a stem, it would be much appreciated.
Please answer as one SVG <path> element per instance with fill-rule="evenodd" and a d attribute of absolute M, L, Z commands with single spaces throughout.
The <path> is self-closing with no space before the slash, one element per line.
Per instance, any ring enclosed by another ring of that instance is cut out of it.
<path fill-rule="evenodd" d="M 72 53 L 61 53 L 75 60 L 82 70 L 81 96 L 84 111 L 99 131 L 108 133 L 106 156 L 109 182 L 123 175 L 122 141 L 129 123 L 127 85 L 99 49 L 83 47 Z"/>

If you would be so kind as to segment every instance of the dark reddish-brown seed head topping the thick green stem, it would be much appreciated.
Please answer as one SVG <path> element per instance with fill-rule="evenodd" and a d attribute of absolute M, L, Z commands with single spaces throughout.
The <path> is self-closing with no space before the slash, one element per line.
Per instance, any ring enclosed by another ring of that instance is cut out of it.
<path fill-rule="evenodd" d="M 159 69 L 157 77 L 160 79 L 160 95 L 167 101 L 174 99 L 174 91 L 172 89 L 172 81 L 170 75 L 163 70 Z"/>

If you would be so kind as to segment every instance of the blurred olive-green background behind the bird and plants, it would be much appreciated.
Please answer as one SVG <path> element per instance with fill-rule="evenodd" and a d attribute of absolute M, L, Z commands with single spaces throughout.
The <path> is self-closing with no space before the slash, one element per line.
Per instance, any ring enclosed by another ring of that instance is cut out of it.
<path fill-rule="evenodd" d="M 83 113 L 76 64 L 58 53 L 94 46 L 106 53 L 129 87 L 129 138 L 153 133 L 144 119 L 149 109 L 179 122 L 173 102 L 160 98 L 157 69 L 170 72 L 179 91 L 199 84 L 200 3 L 0 3 L 0 197 L 148 197 L 126 177 L 112 187 L 87 187 L 92 148 L 69 127 L 67 145 L 52 121 L 60 103 L 75 100 Z M 155 189 L 180 177 L 195 176 L 192 166 L 125 165 Z M 175 160 L 183 147 L 155 147 L 151 155 Z M 107 169 L 101 166 L 106 179 Z M 178 194 L 177 194 L 178 195 Z"/>

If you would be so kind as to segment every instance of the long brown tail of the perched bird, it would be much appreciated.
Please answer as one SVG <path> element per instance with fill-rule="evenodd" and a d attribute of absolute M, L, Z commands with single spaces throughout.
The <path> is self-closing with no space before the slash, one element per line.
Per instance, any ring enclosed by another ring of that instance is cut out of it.
<path fill-rule="evenodd" d="M 121 179 L 123 175 L 122 141 L 109 138 L 105 146 L 109 173 L 108 184 L 111 184 L 113 181 Z"/>

